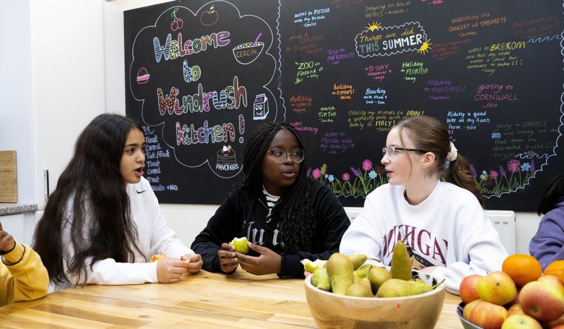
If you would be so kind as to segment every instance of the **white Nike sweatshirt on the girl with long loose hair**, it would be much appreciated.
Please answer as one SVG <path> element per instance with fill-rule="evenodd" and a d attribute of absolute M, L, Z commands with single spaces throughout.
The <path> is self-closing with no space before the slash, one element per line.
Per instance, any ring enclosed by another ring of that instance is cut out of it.
<path fill-rule="evenodd" d="M 72 222 L 72 199 L 67 203 L 67 223 L 63 227 L 63 241 L 65 250 L 63 254 L 63 266 L 67 272 L 68 282 L 55 286 L 55 290 L 74 287 L 86 281 L 87 284 L 140 284 L 146 282 L 158 282 L 157 262 L 148 263 L 152 255 L 164 254 L 167 257 L 180 258 L 193 251 L 180 241 L 176 233 L 166 225 L 165 217 L 162 215 L 161 207 L 158 205 L 157 197 L 151 185 L 144 177 L 137 184 L 127 185 L 127 195 L 131 202 L 131 218 L 137 226 L 139 240 L 137 245 L 143 251 L 143 255 L 135 252 L 134 263 L 118 263 L 112 258 L 97 261 L 90 269 L 91 258 L 86 260 L 87 278 L 82 276 L 78 282 L 76 275 L 68 274 L 67 262 L 74 256 L 74 250 L 70 243 L 70 222 Z M 69 211 L 70 209 L 70 211 Z M 88 208 L 86 208 L 88 209 Z M 88 228 L 85 227 L 85 236 Z"/>

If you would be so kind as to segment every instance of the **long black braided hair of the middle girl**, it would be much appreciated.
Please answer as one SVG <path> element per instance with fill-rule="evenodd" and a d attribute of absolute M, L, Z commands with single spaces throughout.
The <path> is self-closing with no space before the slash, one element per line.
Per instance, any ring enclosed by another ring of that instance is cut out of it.
<path fill-rule="evenodd" d="M 266 122 L 251 133 L 244 152 L 243 177 L 240 185 L 252 190 L 262 189 L 261 163 L 268 146 L 280 129 L 289 130 L 298 139 L 299 148 L 305 151 L 302 137 L 293 126 L 284 122 Z M 283 232 L 283 249 L 290 255 L 308 251 L 311 236 L 315 233 L 315 216 L 310 203 L 311 187 L 306 177 L 306 159 L 301 162 L 296 182 L 283 196 L 280 228 Z"/>

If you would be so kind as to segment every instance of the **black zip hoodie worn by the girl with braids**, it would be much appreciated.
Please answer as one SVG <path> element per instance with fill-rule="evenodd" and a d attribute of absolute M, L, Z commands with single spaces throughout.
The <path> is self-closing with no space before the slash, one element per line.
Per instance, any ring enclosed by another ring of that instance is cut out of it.
<path fill-rule="evenodd" d="M 327 186 L 310 178 L 310 202 L 315 216 L 315 233 L 311 236 L 309 250 L 299 251 L 296 255 L 286 255 L 281 245 L 280 216 L 284 207 L 284 196 L 280 203 L 272 208 L 270 221 L 268 207 L 262 191 L 250 191 L 239 187 L 231 192 L 208 226 L 196 236 L 191 249 L 199 253 L 204 261 L 202 269 L 210 272 L 221 272 L 217 252 L 222 243 L 229 243 L 233 238 L 246 236 L 249 242 L 271 249 L 282 257 L 279 277 L 303 278 L 303 259 L 311 261 L 327 260 L 339 251 L 341 238 L 350 225 L 337 196 Z M 249 256 L 259 256 L 249 249 Z"/>

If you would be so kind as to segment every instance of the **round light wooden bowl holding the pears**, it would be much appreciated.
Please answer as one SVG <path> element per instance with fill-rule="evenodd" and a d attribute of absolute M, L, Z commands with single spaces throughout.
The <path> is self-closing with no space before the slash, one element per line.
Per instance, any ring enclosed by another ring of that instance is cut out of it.
<path fill-rule="evenodd" d="M 413 271 L 428 284 L 438 279 Z M 434 282 L 434 283 L 433 283 Z M 305 279 L 307 305 L 320 328 L 433 328 L 443 309 L 441 283 L 421 295 L 393 298 L 352 297 L 323 291 Z"/>

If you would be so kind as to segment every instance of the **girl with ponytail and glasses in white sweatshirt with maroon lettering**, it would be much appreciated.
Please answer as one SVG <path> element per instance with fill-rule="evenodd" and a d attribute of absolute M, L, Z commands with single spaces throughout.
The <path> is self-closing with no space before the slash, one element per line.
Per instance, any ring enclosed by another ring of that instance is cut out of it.
<path fill-rule="evenodd" d="M 467 275 L 501 270 L 508 254 L 482 208 L 468 161 L 440 121 L 400 121 L 382 153 L 389 183 L 367 196 L 341 253 L 364 253 L 389 266 L 395 242 L 407 235 L 412 268 L 446 279 L 453 293 Z"/>

